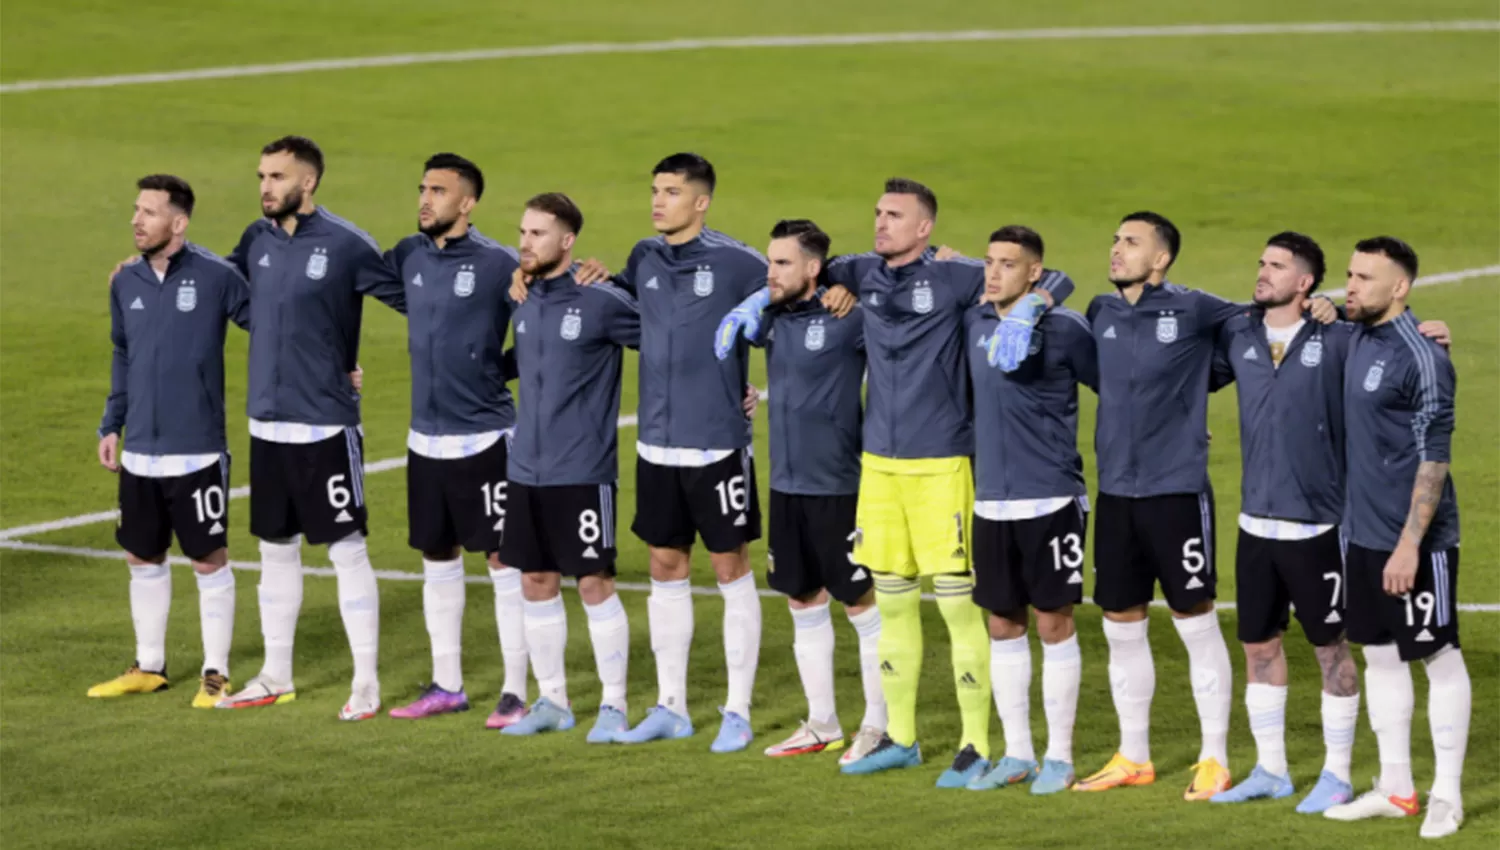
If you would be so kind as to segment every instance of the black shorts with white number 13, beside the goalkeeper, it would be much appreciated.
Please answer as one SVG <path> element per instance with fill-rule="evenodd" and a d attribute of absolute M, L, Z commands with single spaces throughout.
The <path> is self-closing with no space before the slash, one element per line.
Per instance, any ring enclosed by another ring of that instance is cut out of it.
<path fill-rule="evenodd" d="M 974 517 L 974 604 L 998 615 L 1044 612 L 1083 601 L 1083 546 L 1089 514 L 1083 498 L 1047 516 L 1020 520 Z"/>

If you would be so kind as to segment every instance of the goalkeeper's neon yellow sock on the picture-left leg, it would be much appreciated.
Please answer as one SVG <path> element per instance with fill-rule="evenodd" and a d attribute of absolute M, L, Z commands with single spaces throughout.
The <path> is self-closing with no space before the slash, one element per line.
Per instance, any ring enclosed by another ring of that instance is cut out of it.
<path fill-rule="evenodd" d="M 922 676 L 922 594 L 915 579 L 874 577 L 880 609 L 880 684 L 890 715 L 885 732 L 902 747 L 916 742 L 916 682 Z"/>

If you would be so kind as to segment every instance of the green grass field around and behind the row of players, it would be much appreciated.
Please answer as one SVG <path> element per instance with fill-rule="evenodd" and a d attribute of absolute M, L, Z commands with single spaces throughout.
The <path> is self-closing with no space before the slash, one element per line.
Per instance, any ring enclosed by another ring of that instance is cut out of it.
<path fill-rule="evenodd" d="M 12 0 L 0 9 L 0 81 L 507 45 L 746 34 L 868 33 L 1212 22 L 1497 19 L 1491 1 L 1188 0 L 1132 4 L 886 0 L 678 4 L 586 0 L 558 7 L 456 0 L 132 4 Z M 914 13 L 915 12 L 915 13 Z M 258 214 L 256 151 L 286 132 L 328 154 L 320 199 L 388 246 L 414 228 L 422 160 L 456 150 L 486 168 L 482 229 L 510 240 L 520 202 L 573 195 L 588 216 L 582 252 L 620 265 L 650 232 L 646 172 L 698 150 L 720 190 L 711 223 L 762 244 L 778 217 L 818 219 L 834 249 L 866 250 L 870 208 L 892 174 L 933 186 L 939 237 L 976 253 L 986 234 L 1024 222 L 1048 264 L 1078 282 L 1074 306 L 1104 291 L 1108 237 L 1148 207 L 1184 231 L 1173 277 L 1248 298 L 1264 238 L 1294 228 L 1323 241 L 1341 270 L 1356 238 L 1392 232 L 1424 273 L 1485 267 L 1500 256 L 1500 36 L 1324 33 L 1194 37 L 885 43 L 813 49 L 600 54 L 370 67 L 0 94 L 0 528 L 104 511 L 114 478 L 94 462 L 108 390 L 105 277 L 128 255 L 134 181 L 172 171 L 198 190 L 192 237 L 226 252 Z M 1341 273 L 1336 274 L 1341 277 Z M 1336 279 L 1330 286 L 1336 286 Z M 1496 277 L 1424 288 L 1414 307 L 1454 330 L 1460 376 L 1455 466 L 1462 523 L 1461 603 L 1500 603 L 1500 288 Z M 246 483 L 243 334 L 230 342 L 230 441 Z M 706 352 L 705 352 L 706 354 Z M 405 328 L 366 310 L 369 459 L 405 453 Z M 764 375 L 756 355 L 756 375 Z M 524 400 L 520 403 L 525 403 Z M 1082 442 L 1090 445 L 1092 397 Z M 624 412 L 634 409 L 627 379 Z M 1221 540 L 1238 513 L 1233 399 L 1214 402 L 1212 474 Z M 758 451 L 765 457 L 764 412 Z M 633 514 L 633 430 L 622 435 L 621 577 L 646 579 Z M 1092 466 L 1092 450 L 1084 453 Z M 762 474 L 764 480 L 764 474 Z M 405 547 L 404 475 L 372 475 L 370 555 L 378 570 L 418 573 Z M 764 496 L 764 493 L 762 493 Z M 231 507 L 231 556 L 256 559 L 248 504 Z M 112 550 L 108 522 L 24 541 Z M 14 541 L 0 540 L 0 546 Z M 1233 556 L 1220 547 L 1224 598 Z M 754 549 L 764 571 L 764 547 Z M 310 552 L 309 564 L 326 564 Z M 482 576 L 477 559 L 470 570 Z M 694 577 L 711 583 L 706 564 Z M 582 732 L 501 739 L 483 712 L 348 726 L 350 658 L 334 585 L 309 576 L 298 633 L 296 703 L 264 712 L 194 712 L 196 591 L 176 571 L 168 657 L 174 690 L 110 703 L 87 687 L 129 663 L 126 571 L 118 559 L 0 547 L 0 841 L 4 847 L 268 847 L 442 843 L 494 847 L 1406 847 L 1412 822 L 1336 825 L 1293 814 L 1294 801 L 1246 807 L 1180 801 L 1197 756 L 1186 657 L 1162 612 L 1155 762 L 1149 789 L 1035 799 L 1020 792 L 940 793 L 958 718 L 946 639 L 927 610 L 920 714 L 928 766 L 868 780 L 832 757 L 771 762 L 710 756 L 723 696 L 720 603 L 699 600 L 692 712 L 699 735 L 650 748 L 590 748 Z M 632 718 L 654 697 L 642 594 L 632 616 Z M 764 747 L 795 724 L 804 700 L 790 618 L 766 600 L 753 724 Z M 494 609 L 471 585 L 468 691 L 500 682 Z M 585 618 L 570 597 L 570 690 L 591 717 L 598 688 Z M 1076 736 L 1080 772 L 1116 745 L 1098 613 L 1080 615 L 1084 681 Z M 1224 612 L 1233 634 L 1234 615 Z M 1464 613 L 1474 681 L 1466 774 L 1468 822 L 1454 847 L 1500 838 L 1500 613 Z M 1298 628 L 1293 627 L 1293 633 Z M 238 583 L 234 673 L 260 663 L 255 576 Z M 1299 792 L 1322 765 L 1317 667 L 1288 642 L 1288 754 Z M 1240 705 L 1232 768 L 1254 748 Z M 382 583 L 381 673 L 387 705 L 429 676 L 420 582 Z M 840 628 L 840 705 L 858 720 L 858 660 Z M 1419 787 L 1431 780 L 1425 679 L 1413 732 Z M 1034 694 L 1038 688 L 1034 688 Z M 488 708 L 488 706 L 477 706 Z M 1044 724 L 1034 708 L 1038 744 Z M 999 724 L 993 724 L 999 745 Z M 759 747 L 754 748 L 754 753 Z M 1356 786 L 1377 771 L 1360 721 Z M 1300 795 L 1299 795 L 1300 796 Z"/>

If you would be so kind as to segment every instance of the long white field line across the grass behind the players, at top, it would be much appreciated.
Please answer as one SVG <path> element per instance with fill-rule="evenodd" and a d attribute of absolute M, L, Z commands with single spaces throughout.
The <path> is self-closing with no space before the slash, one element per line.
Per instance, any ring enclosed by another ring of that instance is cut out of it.
<path fill-rule="evenodd" d="M 460 49 L 442 52 L 402 52 L 345 58 L 314 58 L 272 64 L 230 64 L 189 70 L 152 73 L 116 73 L 110 76 L 76 76 L 68 79 L 24 79 L 0 84 L 0 94 L 58 88 L 111 88 L 117 85 L 148 85 L 154 82 L 186 82 L 195 79 L 231 79 L 240 76 L 272 76 L 282 73 L 314 73 L 322 70 L 352 70 L 360 67 L 396 67 L 411 64 L 444 64 L 459 61 L 496 61 L 508 58 L 543 58 L 556 55 L 652 54 L 705 49 L 754 48 L 838 48 L 862 45 L 952 43 L 952 42 L 1030 42 L 1083 39 L 1164 39 L 1210 36 L 1320 36 L 1353 33 L 1492 33 L 1500 21 L 1329 21 L 1308 24 L 1182 24 L 1166 27 L 1052 27 L 1036 30 L 957 30 L 909 33 L 846 33 L 813 36 L 738 36 L 711 39 L 672 39 L 654 42 L 585 42 L 508 48 Z"/>

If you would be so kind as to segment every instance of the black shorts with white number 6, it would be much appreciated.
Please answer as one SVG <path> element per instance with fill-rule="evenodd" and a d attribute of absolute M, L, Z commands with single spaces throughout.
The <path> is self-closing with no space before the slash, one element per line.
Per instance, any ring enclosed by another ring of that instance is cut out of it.
<path fill-rule="evenodd" d="M 369 534 L 364 511 L 364 438 L 358 429 L 318 442 L 250 438 L 250 534 L 303 535 L 336 543 Z"/>

